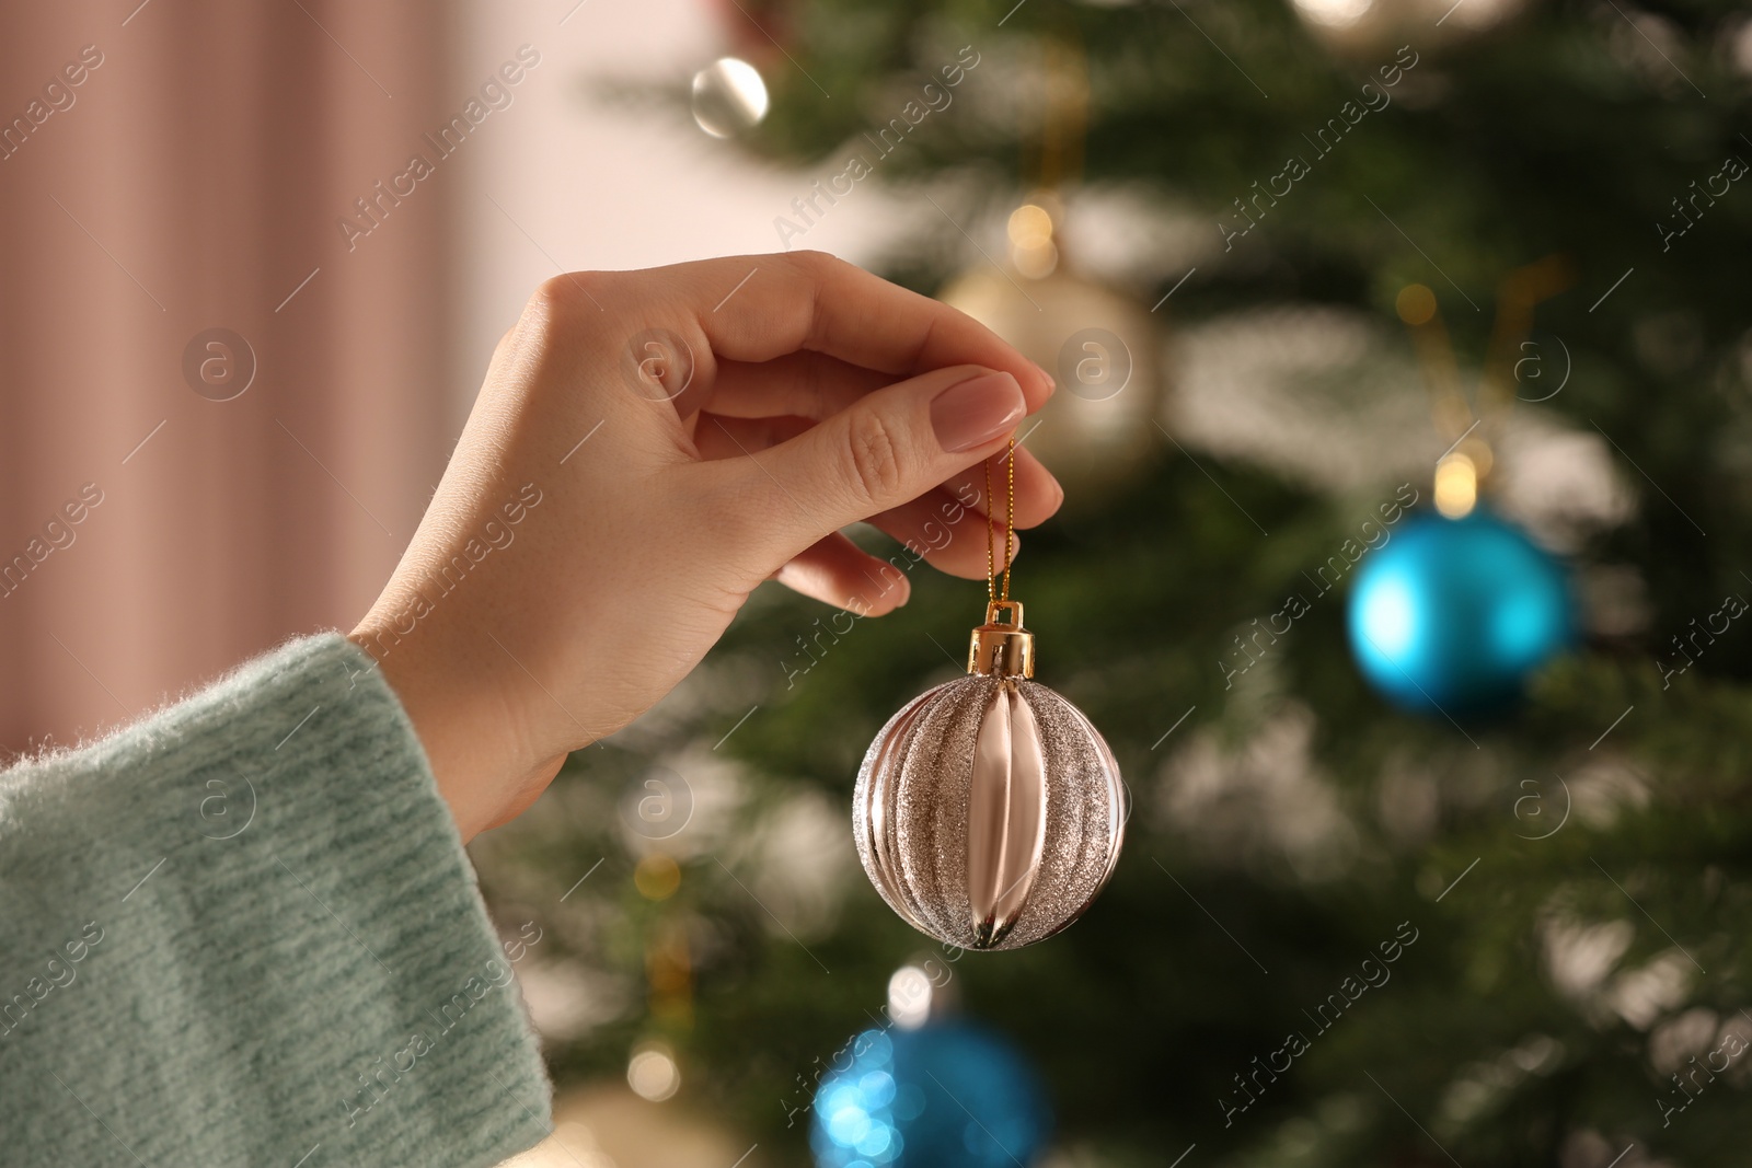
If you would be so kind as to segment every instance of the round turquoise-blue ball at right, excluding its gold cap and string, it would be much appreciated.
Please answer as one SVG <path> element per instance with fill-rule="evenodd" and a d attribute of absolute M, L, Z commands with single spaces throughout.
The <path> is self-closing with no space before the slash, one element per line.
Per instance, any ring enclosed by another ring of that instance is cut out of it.
<path fill-rule="evenodd" d="M 1491 714 L 1575 641 L 1561 562 L 1482 508 L 1416 515 L 1370 552 L 1351 592 L 1351 653 L 1416 713 Z"/>

